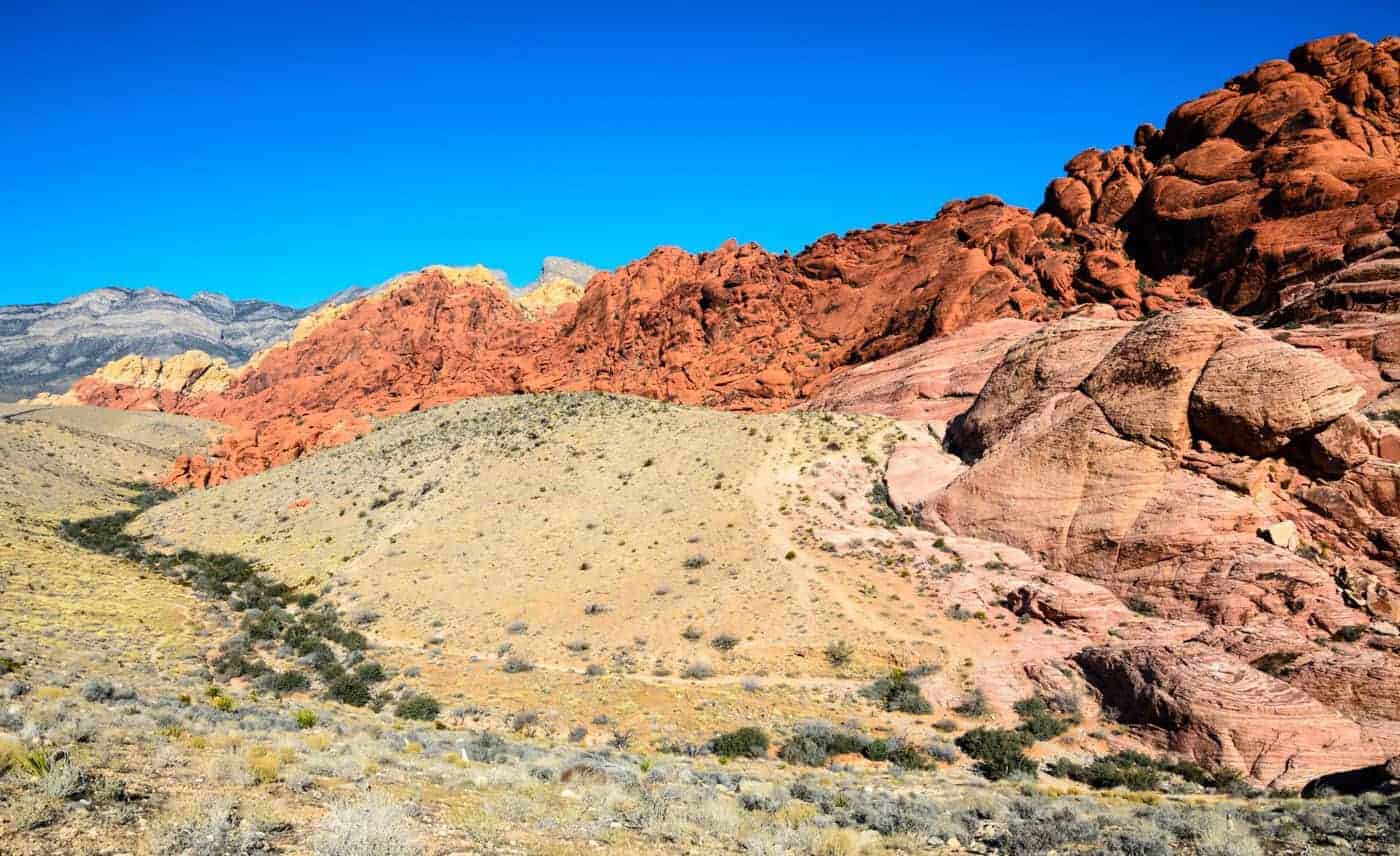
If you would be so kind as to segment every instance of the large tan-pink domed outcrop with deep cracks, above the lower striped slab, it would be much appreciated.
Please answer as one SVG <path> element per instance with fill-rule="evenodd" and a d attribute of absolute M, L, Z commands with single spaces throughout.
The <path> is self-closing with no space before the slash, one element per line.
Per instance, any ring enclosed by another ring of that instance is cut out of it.
<path fill-rule="evenodd" d="M 1259 532 L 1306 517 L 1289 489 L 1358 521 L 1385 517 L 1386 462 L 1331 429 L 1362 395 L 1326 357 L 1214 310 L 1056 322 L 1007 352 L 949 430 L 973 465 L 921 497 L 924 521 L 1005 541 L 1165 612 L 1341 626 L 1354 616 L 1327 570 Z M 1333 448 L 1313 455 L 1326 458 L 1319 479 L 1338 465 L 1347 475 L 1323 483 L 1259 460 L 1301 437 Z M 1260 581 L 1281 574 L 1287 597 Z"/>

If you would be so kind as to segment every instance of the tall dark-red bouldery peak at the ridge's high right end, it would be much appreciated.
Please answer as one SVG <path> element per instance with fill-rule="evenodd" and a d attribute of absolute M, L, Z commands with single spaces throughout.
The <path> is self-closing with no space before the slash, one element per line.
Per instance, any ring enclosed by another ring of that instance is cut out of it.
<path fill-rule="evenodd" d="M 1096 248 L 1103 298 L 1186 286 L 1231 311 L 1274 310 L 1288 286 L 1394 242 L 1397 105 L 1400 39 L 1317 39 L 1177 106 L 1162 130 L 1140 127 L 1133 146 L 1081 153 L 1042 210 L 1079 244 L 1123 235 Z"/>

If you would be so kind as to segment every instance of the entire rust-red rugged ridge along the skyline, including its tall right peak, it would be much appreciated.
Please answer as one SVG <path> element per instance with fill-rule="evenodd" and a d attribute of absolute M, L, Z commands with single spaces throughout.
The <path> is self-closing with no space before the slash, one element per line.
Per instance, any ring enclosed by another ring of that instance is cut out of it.
<path fill-rule="evenodd" d="M 1324 277 L 1394 244 L 1397 56 L 1396 38 L 1303 45 L 1182 105 L 1163 130 L 1138 129 L 1133 146 L 1077 156 L 1035 216 L 977 198 L 932 220 L 827 235 L 797 256 L 662 248 L 539 319 L 497 289 L 430 269 L 267 352 L 223 394 L 153 398 L 85 381 L 78 395 L 241 429 L 185 464 L 181 478 L 211 483 L 353 437 L 370 416 L 468 395 L 605 389 L 780 409 L 830 388 L 823 401 L 850 401 L 850 371 L 834 384 L 833 373 L 1082 303 L 1137 318 L 1205 297 L 1249 311 L 1303 301 L 1280 324 L 1338 301 L 1385 308 L 1393 289 L 1373 283 L 1389 266 L 1354 272 L 1365 289 Z M 1372 394 L 1394 371 L 1390 339 L 1400 335 L 1376 338 L 1376 363 L 1348 366 L 1372 366 Z"/>

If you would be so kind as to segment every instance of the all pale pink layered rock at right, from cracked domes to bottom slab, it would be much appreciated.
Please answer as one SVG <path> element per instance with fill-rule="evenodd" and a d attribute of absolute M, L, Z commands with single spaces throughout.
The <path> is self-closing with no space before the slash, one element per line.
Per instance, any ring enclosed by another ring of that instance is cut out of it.
<path fill-rule="evenodd" d="M 949 429 L 966 469 L 924 454 L 920 479 L 896 450 L 888 478 L 934 531 L 1011 544 L 1152 622 L 1205 622 L 1186 647 L 1142 639 L 1079 663 L 1170 748 L 1299 786 L 1400 740 L 1385 635 L 1400 465 L 1358 412 L 1366 388 L 1326 353 L 1215 310 L 1051 322 Z M 1008 605 L 1078 629 L 1112 615 L 1035 586 Z M 1343 630 L 1336 649 L 1313 642 Z"/>

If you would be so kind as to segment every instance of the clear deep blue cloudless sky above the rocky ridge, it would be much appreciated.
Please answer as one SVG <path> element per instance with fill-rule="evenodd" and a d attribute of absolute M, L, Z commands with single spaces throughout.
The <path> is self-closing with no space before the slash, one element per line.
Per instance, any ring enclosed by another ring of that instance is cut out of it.
<path fill-rule="evenodd" d="M 1400 25 L 1317 0 L 214 6 L 0 0 L 0 303 L 309 304 L 434 262 L 524 283 L 545 255 L 1035 206 L 1257 62 Z"/>

